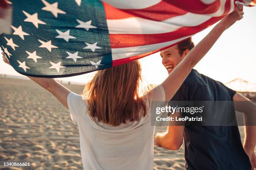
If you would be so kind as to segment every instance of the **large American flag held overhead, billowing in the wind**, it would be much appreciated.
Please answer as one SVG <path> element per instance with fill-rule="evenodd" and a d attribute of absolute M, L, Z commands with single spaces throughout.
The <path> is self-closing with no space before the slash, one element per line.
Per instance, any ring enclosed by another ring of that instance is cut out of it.
<path fill-rule="evenodd" d="M 5 0 L 12 34 L 0 47 L 17 72 L 68 77 L 158 52 L 251 0 Z"/>

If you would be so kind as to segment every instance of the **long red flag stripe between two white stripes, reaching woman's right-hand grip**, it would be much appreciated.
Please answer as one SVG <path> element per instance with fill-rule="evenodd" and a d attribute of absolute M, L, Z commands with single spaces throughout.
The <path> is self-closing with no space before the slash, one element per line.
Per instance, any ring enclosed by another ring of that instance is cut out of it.
<path fill-rule="evenodd" d="M 136 47 L 143 45 L 157 44 L 161 42 L 167 42 L 179 39 L 180 37 L 186 37 L 193 35 L 201 30 L 209 27 L 210 25 L 218 22 L 230 10 L 230 1 L 225 2 L 225 10 L 222 16 L 212 17 L 210 20 L 197 25 L 195 27 L 182 27 L 173 32 L 161 33 L 161 34 L 110 34 L 110 45 L 111 48 L 125 48 L 125 47 Z"/>

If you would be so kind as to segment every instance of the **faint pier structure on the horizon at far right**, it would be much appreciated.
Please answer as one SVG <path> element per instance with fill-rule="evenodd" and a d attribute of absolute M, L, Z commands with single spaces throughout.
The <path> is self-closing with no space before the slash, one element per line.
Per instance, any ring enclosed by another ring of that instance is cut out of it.
<path fill-rule="evenodd" d="M 226 86 L 236 90 L 243 96 L 249 98 L 250 100 L 256 102 L 256 83 L 248 82 L 246 80 L 236 78 L 225 83 Z"/>

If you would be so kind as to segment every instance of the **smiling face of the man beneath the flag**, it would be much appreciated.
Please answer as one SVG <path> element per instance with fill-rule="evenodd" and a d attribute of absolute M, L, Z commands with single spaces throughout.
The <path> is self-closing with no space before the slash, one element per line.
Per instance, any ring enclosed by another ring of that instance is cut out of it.
<path fill-rule="evenodd" d="M 179 62 L 181 62 L 185 57 L 184 54 L 179 54 L 178 45 L 174 45 L 162 50 L 160 55 L 162 57 L 162 64 L 168 71 L 168 74 L 170 74 L 172 70 L 179 64 Z"/>

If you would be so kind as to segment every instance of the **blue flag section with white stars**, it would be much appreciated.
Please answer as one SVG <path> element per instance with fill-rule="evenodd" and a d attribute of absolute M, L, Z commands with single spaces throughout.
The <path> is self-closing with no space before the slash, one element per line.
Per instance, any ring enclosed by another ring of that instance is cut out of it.
<path fill-rule="evenodd" d="M 17 72 L 36 77 L 68 77 L 112 66 L 102 2 L 11 3 L 13 33 L 0 35 L 0 47 Z"/>

